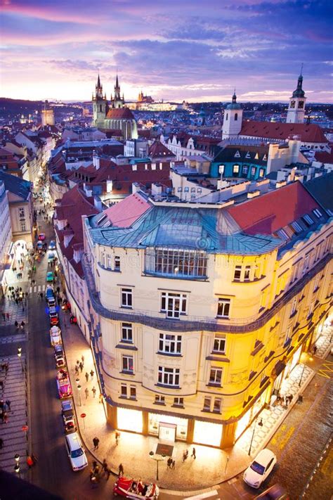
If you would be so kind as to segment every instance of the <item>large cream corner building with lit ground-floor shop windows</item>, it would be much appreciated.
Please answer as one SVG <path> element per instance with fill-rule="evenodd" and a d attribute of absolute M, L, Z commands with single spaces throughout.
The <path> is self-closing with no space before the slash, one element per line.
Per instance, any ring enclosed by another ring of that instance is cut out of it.
<path fill-rule="evenodd" d="M 84 238 L 114 428 L 233 445 L 329 312 L 332 218 L 299 182 L 225 205 L 139 191 L 84 219 Z"/>

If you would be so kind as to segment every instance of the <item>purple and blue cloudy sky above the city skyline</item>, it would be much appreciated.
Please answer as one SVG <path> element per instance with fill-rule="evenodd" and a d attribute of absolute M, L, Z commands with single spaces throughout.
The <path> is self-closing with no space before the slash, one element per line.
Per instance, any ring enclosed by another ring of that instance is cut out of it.
<path fill-rule="evenodd" d="M 1 96 L 332 102 L 330 0 L 0 0 Z"/>

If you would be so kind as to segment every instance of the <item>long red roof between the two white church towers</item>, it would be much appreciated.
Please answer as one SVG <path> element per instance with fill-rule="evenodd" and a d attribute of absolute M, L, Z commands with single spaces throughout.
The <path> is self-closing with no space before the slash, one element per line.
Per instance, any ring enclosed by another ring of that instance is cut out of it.
<path fill-rule="evenodd" d="M 299 135 L 302 142 L 328 142 L 319 125 L 306 123 L 242 122 L 240 135 L 263 139 L 288 139 Z"/>

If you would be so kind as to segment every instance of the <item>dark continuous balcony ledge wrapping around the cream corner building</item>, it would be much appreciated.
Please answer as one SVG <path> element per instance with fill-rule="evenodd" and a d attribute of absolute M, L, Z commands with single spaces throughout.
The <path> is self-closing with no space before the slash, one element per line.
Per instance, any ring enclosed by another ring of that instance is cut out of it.
<path fill-rule="evenodd" d="M 173 330 L 174 331 L 226 331 L 230 333 L 242 333 L 249 331 L 256 331 L 257 329 L 264 326 L 267 321 L 269 321 L 278 311 L 287 304 L 292 298 L 303 290 L 308 281 L 311 281 L 313 276 L 317 274 L 321 269 L 325 267 L 327 262 L 331 259 L 331 255 L 328 254 L 322 259 L 318 264 L 311 269 L 303 278 L 301 278 L 298 283 L 285 295 L 282 295 L 275 305 L 271 309 L 266 309 L 260 316 L 254 315 L 243 319 L 218 319 L 215 317 L 207 316 L 190 316 L 184 315 L 180 319 L 166 318 L 165 313 L 158 311 L 148 311 L 140 309 L 129 309 L 129 310 L 119 310 L 119 309 L 108 309 L 103 306 L 100 302 L 99 294 L 96 290 L 95 278 L 93 276 L 93 271 L 91 269 L 91 264 L 86 254 L 81 257 L 81 264 L 84 270 L 84 276 L 87 282 L 87 288 L 89 291 L 89 297 L 91 299 L 91 305 L 93 309 L 101 316 L 117 321 L 126 321 L 129 323 L 141 323 L 146 326 L 151 326 L 152 328 L 162 329 L 162 330 Z"/>

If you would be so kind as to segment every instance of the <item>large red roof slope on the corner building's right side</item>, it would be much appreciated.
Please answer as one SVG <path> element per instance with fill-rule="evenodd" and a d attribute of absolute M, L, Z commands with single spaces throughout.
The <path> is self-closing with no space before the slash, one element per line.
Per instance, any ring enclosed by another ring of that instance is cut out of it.
<path fill-rule="evenodd" d="M 273 234 L 314 208 L 320 208 L 299 181 L 228 208 L 248 234 Z"/>

